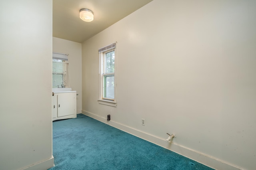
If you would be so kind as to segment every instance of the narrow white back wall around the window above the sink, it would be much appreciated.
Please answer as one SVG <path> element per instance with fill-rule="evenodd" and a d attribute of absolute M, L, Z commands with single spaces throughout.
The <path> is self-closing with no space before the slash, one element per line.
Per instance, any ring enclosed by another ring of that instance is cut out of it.
<path fill-rule="evenodd" d="M 52 38 L 52 51 L 68 55 L 70 87 L 76 91 L 76 112 L 82 113 L 82 44 L 60 38 Z"/>

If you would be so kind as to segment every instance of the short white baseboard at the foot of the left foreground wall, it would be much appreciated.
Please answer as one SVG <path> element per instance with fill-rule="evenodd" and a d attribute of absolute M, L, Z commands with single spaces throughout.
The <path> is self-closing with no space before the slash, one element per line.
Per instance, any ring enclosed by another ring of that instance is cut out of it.
<path fill-rule="evenodd" d="M 54 166 L 54 157 L 52 156 L 51 158 L 49 158 L 47 160 L 30 165 L 21 170 L 47 170 L 49 168 L 52 168 L 53 166 Z"/>

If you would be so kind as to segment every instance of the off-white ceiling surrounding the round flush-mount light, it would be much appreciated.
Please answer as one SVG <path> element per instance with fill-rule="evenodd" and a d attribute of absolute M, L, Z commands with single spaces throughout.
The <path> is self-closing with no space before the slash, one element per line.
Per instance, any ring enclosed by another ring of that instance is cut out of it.
<path fill-rule="evenodd" d="M 53 0 L 52 36 L 84 42 L 152 0 Z M 84 22 L 79 11 L 93 11 L 94 20 Z"/>

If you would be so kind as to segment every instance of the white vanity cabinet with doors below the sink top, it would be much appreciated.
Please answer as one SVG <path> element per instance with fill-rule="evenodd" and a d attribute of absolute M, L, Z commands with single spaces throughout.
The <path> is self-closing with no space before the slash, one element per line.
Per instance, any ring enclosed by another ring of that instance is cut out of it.
<path fill-rule="evenodd" d="M 52 121 L 76 118 L 76 91 L 55 92 L 52 96 Z"/>

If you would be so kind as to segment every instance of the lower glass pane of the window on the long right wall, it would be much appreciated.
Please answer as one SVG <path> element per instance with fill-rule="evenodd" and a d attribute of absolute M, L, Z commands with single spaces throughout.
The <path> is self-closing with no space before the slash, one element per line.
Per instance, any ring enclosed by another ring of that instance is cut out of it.
<path fill-rule="evenodd" d="M 114 75 L 104 75 L 104 95 L 103 97 L 114 99 L 115 77 Z"/>

